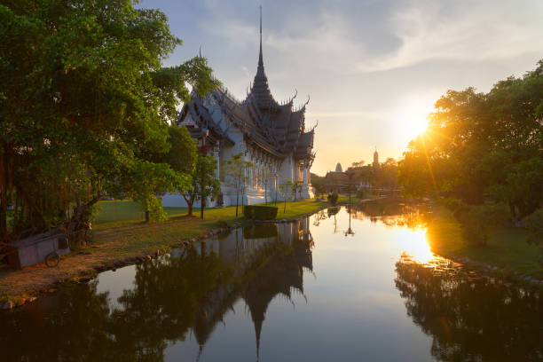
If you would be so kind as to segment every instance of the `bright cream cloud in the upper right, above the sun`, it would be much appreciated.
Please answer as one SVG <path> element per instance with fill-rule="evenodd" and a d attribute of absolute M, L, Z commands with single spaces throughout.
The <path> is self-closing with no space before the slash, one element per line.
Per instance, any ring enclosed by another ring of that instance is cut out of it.
<path fill-rule="evenodd" d="M 535 9 L 535 11 L 534 11 Z M 508 59 L 543 48 L 543 3 L 410 4 L 393 15 L 397 51 L 358 63 L 362 72 L 409 67 L 429 59 Z"/>

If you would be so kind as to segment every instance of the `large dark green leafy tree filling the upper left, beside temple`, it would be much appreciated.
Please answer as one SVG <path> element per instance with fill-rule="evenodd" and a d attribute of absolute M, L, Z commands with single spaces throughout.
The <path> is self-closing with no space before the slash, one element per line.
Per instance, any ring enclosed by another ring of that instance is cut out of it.
<path fill-rule="evenodd" d="M 169 152 L 169 122 L 190 97 L 187 83 L 205 94 L 217 82 L 201 57 L 162 67 L 181 44 L 162 12 L 130 0 L 2 1 L 0 22 L 4 240 L 8 204 L 17 237 L 76 229 L 105 193 L 150 201 L 159 189 L 190 184 L 153 158 Z M 142 185 L 150 177 L 153 185 Z"/>

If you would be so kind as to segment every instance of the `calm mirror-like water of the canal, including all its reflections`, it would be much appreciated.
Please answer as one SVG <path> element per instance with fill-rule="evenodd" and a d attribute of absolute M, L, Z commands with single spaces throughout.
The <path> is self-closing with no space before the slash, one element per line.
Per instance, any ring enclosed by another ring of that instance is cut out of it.
<path fill-rule="evenodd" d="M 0 360 L 543 360 L 542 295 L 434 256 L 426 216 L 328 209 L 106 271 L 0 313 Z"/>

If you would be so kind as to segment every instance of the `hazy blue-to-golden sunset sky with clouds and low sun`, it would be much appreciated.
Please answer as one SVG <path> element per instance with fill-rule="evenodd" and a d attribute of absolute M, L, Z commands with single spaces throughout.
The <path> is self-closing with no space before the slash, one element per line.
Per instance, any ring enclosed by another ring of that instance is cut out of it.
<path fill-rule="evenodd" d="M 294 96 L 318 122 L 311 172 L 337 162 L 400 159 L 447 90 L 490 91 L 543 59 L 542 0 L 143 0 L 183 40 L 165 66 L 198 54 L 238 99 L 258 61 L 277 100 Z"/>

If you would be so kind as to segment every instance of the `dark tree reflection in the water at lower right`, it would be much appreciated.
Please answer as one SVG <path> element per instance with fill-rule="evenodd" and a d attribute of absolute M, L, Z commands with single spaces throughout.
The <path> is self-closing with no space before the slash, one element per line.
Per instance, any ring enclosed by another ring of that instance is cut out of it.
<path fill-rule="evenodd" d="M 396 266 L 407 314 L 432 337 L 437 360 L 543 359 L 540 290 L 475 278 L 445 260 L 428 267 L 402 258 Z"/>

